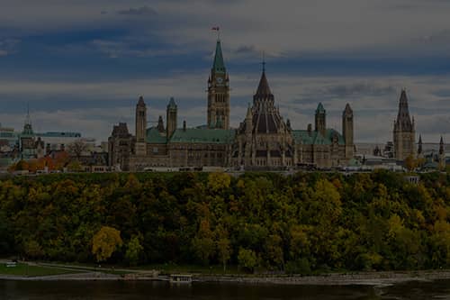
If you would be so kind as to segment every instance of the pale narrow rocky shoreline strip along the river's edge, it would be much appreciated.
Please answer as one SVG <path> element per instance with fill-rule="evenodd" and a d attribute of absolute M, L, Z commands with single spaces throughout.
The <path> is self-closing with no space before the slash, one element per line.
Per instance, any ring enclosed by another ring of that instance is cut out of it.
<path fill-rule="evenodd" d="M 242 275 L 199 275 L 193 274 L 195 283 L 230 283 L 243 285 L 289 285 L 289 286 L 392 286 L 410 281 L 434 281 L 450 279 L 450 270 L 389 271 L 332 273 L 314 276 L 242 276 Z M 0 280 L 17 281 L 161 281 L 168 277 L 134 276 L 86 272 L 40 277 L 0 275 Z"/>

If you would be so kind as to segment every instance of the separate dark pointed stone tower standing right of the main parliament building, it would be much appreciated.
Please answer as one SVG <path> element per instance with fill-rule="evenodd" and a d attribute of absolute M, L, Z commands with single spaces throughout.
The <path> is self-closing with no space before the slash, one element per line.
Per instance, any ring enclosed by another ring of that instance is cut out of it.
<path fill-rule="evenodd" d="M 399 114 L 393 129 L 394 157 L 403 160 L 416 153 L 416 129 L 414 119 L 411 122 L 406 90 L 401 90 Z"/>

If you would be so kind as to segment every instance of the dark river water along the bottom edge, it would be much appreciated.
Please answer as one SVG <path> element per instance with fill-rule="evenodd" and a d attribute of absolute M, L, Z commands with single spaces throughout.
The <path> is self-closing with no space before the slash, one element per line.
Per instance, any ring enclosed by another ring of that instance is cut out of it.
<path fill-rule="evenodd" d="M 193 283 L 171 286 L 149 281 L 0 280 L 2 300 L 221 299 L 221 300 L 399 300 L 450 299 L 450 280 L 395 286 L 271 286 Z"/>

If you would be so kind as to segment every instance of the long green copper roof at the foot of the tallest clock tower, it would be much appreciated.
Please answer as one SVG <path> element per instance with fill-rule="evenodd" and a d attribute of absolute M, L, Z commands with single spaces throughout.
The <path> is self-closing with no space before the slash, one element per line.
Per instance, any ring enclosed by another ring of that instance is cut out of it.
<path fill-rule="evenodd" d="M 234 140 L 235 131 L 226 129 L 177 129 L 170 142 L 228 144 Z"/>

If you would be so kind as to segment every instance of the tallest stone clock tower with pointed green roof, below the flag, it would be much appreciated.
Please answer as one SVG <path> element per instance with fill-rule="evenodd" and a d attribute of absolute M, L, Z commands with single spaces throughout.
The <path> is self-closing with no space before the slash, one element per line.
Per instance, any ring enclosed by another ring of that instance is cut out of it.
<path fill-rule="evenodd" d="M 208 128 L 229 129 L 229 76 L 223 62 L 220 40 L 208 78 Z"/>

